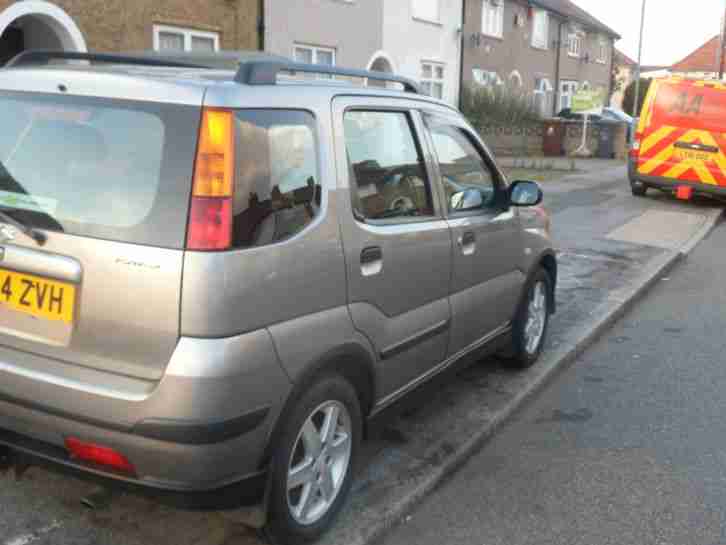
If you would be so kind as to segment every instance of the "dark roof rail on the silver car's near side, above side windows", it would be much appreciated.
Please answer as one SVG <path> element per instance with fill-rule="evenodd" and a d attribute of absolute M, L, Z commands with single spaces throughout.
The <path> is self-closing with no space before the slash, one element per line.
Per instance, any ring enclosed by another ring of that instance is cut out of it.
<path fill-rule="evenodd" d="M 408 93 L 421 94 L 421 89 L 413 80 L 370 70 L 356 70 L 352 68 L 339 68 L 337 66 L 324 66 L 320 64 L 303 64 L 297 62 L 277 61 L 250 61 L 240 63 L 235 80 L 247 85 L 275 85 L 280 72 L 303 72 L 307 74 L 329 74 L 332 76 L 348 76 L 352 78 L 366 78 L 375 81 L 389 81 L 400 83 L 403 90 Z"/>

